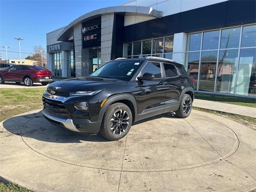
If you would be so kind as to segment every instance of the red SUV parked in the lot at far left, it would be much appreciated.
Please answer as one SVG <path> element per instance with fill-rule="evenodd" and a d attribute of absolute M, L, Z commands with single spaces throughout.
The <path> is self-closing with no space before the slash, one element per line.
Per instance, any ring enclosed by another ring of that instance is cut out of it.
<path fill-rule="evenodd" d="M 33 83 L 47 85 L 52 81 L 52 72 L 40 66 L 13 65 L 0 71 L 0 84 L 5 81 L 24 82 L 26 86 L 32 86 Z"/>

